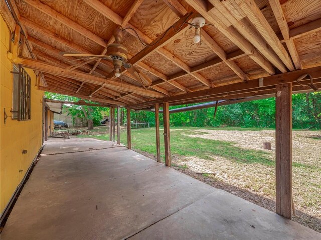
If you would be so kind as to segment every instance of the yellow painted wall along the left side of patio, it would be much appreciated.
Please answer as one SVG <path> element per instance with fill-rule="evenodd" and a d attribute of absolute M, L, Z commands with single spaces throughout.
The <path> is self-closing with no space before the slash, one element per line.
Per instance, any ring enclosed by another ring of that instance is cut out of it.
<path fill-rule="evenodd" d="M 8 117 L 4 124 L 4 108 L 8 116 L 12 109 L 13 66 L 7 59 L 10 32 L 0 16 L 0 212 L 2 213 L 42 146 L 43 91 L 36 90 L 36 75 L 31 77 L 31 120 L 17 121 Z M 27 150 L 27 154 L 22 154 Z"/>

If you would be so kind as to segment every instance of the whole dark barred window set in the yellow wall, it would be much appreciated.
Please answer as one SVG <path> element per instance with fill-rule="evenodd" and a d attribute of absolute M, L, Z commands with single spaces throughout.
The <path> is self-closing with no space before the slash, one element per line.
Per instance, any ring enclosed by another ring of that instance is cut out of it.
<path fill-rule="evenodd" d="M 21 65 L 18 72 L 14 67 L 13 73 L 13 119 L 27 121 L 30 120 L 30 76 Z"/>

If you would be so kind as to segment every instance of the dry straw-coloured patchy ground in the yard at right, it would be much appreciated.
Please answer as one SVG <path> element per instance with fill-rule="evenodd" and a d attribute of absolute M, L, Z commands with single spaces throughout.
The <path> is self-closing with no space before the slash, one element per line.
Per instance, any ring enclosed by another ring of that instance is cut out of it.
<path fill-rule="evenodd" d="M 197 133 L 200 134 L 197 134 Z M 204 134 L 206 133 L 206 134 Z M 267 151 L 275 161 L 275 131 L 193 130 L 188 137 L 234 142 L 235 146 Z M 293 131 L 293 201 L 294 220 L 321 232 L 321 132 Z M 264 150 L 263 142 L 271 142 L 272 150 Z M 260 164 L 238 164 L 229 159 L 210 156 L 175 157 L 173 163 L 182 171 L 214 187 L 226 190 L 262 207 L 275 211 L 275 167 Z M 192 164 L 192 167 L 191 167 Z M 216 174 L 197 174 L 198 165 Z"/>

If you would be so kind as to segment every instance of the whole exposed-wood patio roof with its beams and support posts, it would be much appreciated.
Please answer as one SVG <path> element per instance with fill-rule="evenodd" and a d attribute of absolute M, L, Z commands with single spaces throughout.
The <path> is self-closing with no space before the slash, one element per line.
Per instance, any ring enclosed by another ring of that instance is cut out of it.
<path fill-rule="evenodd" d="M 171 166 L 169 106 L 276 96 L 276 212 L 291 219 L 291 99 L 295 92 L 321 89 L 321 1 L 4 0 L 0 10 L 14 46 L 7 58 L 35 71 L 38 90 L 110 107 L 110 140 L 115 108 L 127 108 L 127 126 L 130 110 L 153 108 L 160 161 L 162 107 L 166 166 Z M 192 24 L 200 16 L 202 28 Z M 124 34 L 127 63 L 150 79 L 149 85 L 128 67 L 116 77 L 107 59 L 75 61 L 61 54 L 105 55 L 118 42 L 116 29 Z M 127 137 L 131 149 L 130 127 Z"/>

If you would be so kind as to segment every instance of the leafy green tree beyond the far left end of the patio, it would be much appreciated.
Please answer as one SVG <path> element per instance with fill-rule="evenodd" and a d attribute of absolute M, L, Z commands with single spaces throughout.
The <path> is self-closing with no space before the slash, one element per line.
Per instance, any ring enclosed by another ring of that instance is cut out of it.
<path fill-rule="evenodd" d="M 45 97 L 54 99 L 54 100 L 61 100 L 61 101 L 73 101 L 78 102 L 81 100 L 80 98 L 73 97 L 73 96 L 66 96 L 57 93 L 45 92 Z M 93 103 L 86 101 L 87 103 Z M 65 106 L 64 106 L 65 107 Z M 68 105 L 68 114 L 72 115 L 73 117 L 84 117 L 88 123 L 88 130 L 92 130 L 93 126 L 100 125 L 100 121 L 103 118 L 103 115 L 106 115 L 109 112 L 109 109 L 106 107 L 98 107 L 98 106 L 82 106 L 82 105 Z"/>

